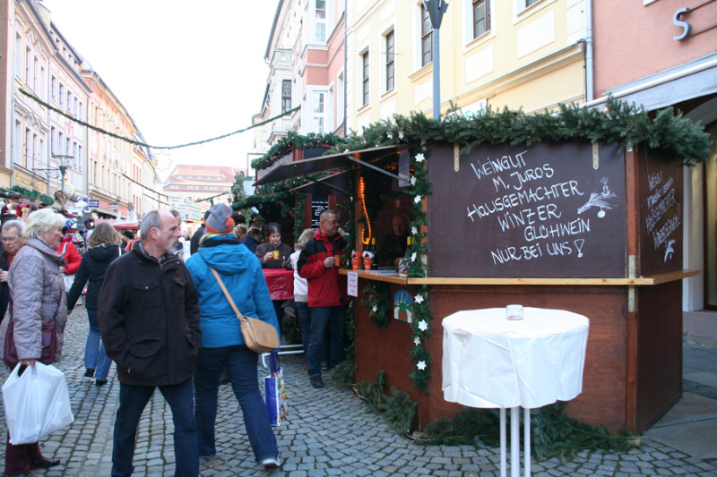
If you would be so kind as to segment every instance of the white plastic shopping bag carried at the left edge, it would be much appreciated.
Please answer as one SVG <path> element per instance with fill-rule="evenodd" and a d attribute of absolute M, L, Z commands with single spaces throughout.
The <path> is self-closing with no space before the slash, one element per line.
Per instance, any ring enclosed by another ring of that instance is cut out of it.
<path fill-rule="evenodd" d="M 10 443 L 38 442 L 74 422 L 65 374 L 55 366 L 35 362 L 18 376 L 15 366 L 3 385 L 3 406 Z"/>

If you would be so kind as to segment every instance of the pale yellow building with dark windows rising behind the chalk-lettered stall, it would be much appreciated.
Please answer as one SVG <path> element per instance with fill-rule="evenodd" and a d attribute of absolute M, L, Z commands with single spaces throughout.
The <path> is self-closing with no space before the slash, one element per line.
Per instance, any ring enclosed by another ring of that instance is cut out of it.
<path fill-rule="evenodd" d="M 436 1 L 436 0 L 434 0 Z M 440 27 L 440 99 L 463 113 L 584 102 L 588 3 L 454 0 Z M 422 1 L 349 2 L 349 127 L 433 114 L 431 23 Z"/>

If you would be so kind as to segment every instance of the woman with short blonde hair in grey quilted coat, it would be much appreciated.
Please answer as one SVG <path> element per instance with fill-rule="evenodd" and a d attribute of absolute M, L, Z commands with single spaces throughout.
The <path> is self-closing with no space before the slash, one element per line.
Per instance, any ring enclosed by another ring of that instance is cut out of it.
<path fill-rule="evenodd" d="M 55 361 L 62 355 L 65 342 L 65 280 L 60 268 L 65 267 L 65 259 L 56 252 L 63 238 L 62 227 L 65 217 L 55 209 L 39 209 L 27 218 L 22 238 L 25 245 L 13 259 L 8 275 L 10 287 L 10 305 L 7 317 L 0 328 L 4 336 L 13 322 L 13 336 L 17 357 L 20 360 L 20 372 L 28 366 L 34 366 L 42 356 L 42 323 L 56 320 L 57 348 Z M 4 349 L 4 343 L 0 350 Z M 8 434 L 5 447 L 5 474 L 30 474 L 30 469 L 47 469 L 60 464 L 59 459 L 50 460 L 42 456 L 39 442 L 31 444 L 10 444 Z"/>

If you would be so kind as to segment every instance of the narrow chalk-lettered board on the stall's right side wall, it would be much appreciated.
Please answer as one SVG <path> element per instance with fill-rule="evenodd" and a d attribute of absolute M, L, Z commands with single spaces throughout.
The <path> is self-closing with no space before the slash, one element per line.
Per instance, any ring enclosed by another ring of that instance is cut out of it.
<path fill-rule="evenodd" d="M 640 172 L 640 274 L 682 269 L 682 162 L 646 149 L 638 154 Z"/>

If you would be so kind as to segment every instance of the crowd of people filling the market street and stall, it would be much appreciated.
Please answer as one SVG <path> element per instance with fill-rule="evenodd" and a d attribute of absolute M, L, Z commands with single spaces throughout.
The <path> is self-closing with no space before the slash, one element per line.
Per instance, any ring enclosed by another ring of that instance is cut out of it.
<path fill-rule="evenodd" d="M 242 314 L 269 323 L 281 336 L 288 303 L 272 302 L 262 268 L 293 270 L 291 307 L 304 369 L 311 385 L 323 388 L 322 371 L 343 361 L 345 346 L 346 291 L 334 262 L 345 243 L 336 211 L 325 209 L 318 229 L 304 230 L 293 250 L 282 243 L 278 223 L 265 226 L 263 242 L 261 228 L 235 223 L 225 204 L 207 211 L 191 240 L 175 210 L 148 212 L 136 235 L 120 234 L 106 222 L 95 226 L 91 218 L 83 225 L 78 234 L 76 222 L 53 208 L 25 220 L 2 216 L 0 349 L 12 322 L 22 373 L 40 358 L 40 325 L 54 321 L 59 359 L 67 317 L 84 294 L 90 325 L 84 377 L 101 387 L 112 362 L 117 367 L 112 475 L 134 471 L 137 426 L 155 388 L 173 416 L 176 475 L 198 475 L 199 459 L 216 454 L 218 387 L 224 381 L 243 410 L 257 463 L 278 467 L 259 390 L 258 354 L 246 346 L 222 285 Z M 385 260 L 400 252 L 407 227 L 407 217 L 394 218 L 395 236 L 386 239 L 394 244 Z M 14 446 L 8 434 L 5 475 L 30 475 L 33 468 L 57 464 L 41 454 L 39 443 Z"/>

